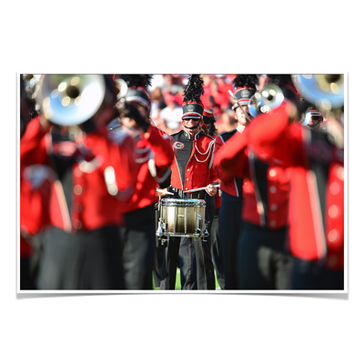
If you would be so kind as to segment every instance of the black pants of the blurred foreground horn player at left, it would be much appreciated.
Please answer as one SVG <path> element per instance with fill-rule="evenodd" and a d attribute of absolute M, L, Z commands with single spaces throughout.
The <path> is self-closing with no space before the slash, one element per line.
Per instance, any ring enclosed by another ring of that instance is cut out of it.
<path fill-rule="evenodd" d="M 67 234 L 45 233 L 39 261 L 39 289 L 125 289 L 119 227 Z"/>

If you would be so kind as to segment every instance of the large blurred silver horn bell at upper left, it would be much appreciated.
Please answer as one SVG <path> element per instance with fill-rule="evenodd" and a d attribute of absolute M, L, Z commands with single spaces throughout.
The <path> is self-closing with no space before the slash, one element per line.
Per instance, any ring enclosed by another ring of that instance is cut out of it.
<path fill-rule="evenodd" d="M 75 126 L 96 114 L 105 92 L 102 75 L 45 75 L 37 102 L 52 123 Z"/>

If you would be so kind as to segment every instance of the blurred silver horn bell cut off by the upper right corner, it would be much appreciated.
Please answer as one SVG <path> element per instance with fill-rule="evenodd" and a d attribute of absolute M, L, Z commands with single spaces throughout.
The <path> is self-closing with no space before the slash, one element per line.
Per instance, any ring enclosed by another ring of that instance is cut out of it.
<path fill-rule="evenodd" d="M 322 111 L 344 105 L 344 75 L 292 75 L 299 95 Z"/>

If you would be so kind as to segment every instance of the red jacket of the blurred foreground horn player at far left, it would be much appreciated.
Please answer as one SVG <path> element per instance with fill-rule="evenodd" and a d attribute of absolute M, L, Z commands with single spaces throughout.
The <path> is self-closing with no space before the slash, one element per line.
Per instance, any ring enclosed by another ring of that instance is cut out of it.
<path fill-rule="evenodd" d="M 137 177 L 131 137 L 111 140 L 106 129 L 74 142 L 53 137 L 49 130 L 42 130 L 36 116 L 20 141 L 22 166 L 39 164 L 55 169 L 54 155 L 72 157 L 72 196 L 66 201 L 64 188 L 56 178 L 49 194 L 49 216 L 39 224 L 49 221 L 68 233 L 122 224 L 120 199 L 132 195 Z"/>

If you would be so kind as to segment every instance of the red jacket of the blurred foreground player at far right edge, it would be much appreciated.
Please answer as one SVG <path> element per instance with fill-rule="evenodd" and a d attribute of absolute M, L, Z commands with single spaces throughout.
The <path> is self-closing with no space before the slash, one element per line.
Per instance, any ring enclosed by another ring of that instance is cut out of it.
<path fill-rule="evenodd" d="M 288 122 L 284 102 L 270 116 L 258 116 L 248 129 L 258 153 L 277 157 L 288 167 L 288 248 L 298 258 L 344 267 L 343 151 L 326 133 Z"/>

